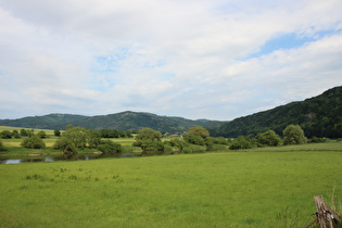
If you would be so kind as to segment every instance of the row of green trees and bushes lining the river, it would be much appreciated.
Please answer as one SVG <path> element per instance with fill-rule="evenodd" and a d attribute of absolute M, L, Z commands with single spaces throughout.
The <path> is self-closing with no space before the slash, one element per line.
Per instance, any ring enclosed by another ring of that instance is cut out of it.
<path fill-rule="evenodd" d="M 24 132 L 24 131 L 22 131 Z M 34 130 L 28 130 L 28 137 L 26 137 L 22 147 L 29 149 L 43 149 L 46 148 L 45 142 L 39 132 L 34 134 Z M 119 153 L 123 151 L 123 148 L 119 143 L 115 143 L 107 138 L 111 132 L 117 132 L 115 130 L 94 130 L 86 129 L 83 127 L 67 126 L 64 132 L 55 130 L 55 136 L 59 136 L 59 139 L 53 144 L 52 149 L 60 150 L 62 155 L 69 156 L 77 154 L 77 151 L 85 148 L 94 149 L 105 154 Z M 8 131 L 2 131 L 1 136 L 7 136 Z M 276 131 L 267 130 L 256 136 L 239 136 L 236 139 L 226 139 L 224 137 L 211 137 L 207 129 L 197 126 L 191 127 L 187 134 L 183 134 L 181 138 L 175 138 L 170 140 L 162 141 L 162 135 L 160 131 L 153 130 L 151 128 L 144 128 L 139 130 L 134 147 L 139 147 L 142 150 L 143 154 L 153 153 L 155 151 L 164 152 L 165 148 L 176 148 L 179 153 L 192 153 L 199 148 L 205 150 L 212 150 L 215 145 L 226 145 L 230 150 L 239 149 L 251 149 L 255 147 L 278 147 L 287 144 L 304 144 L 308 142 L 308 139 L 305 137 L 304 130 L 299 125 L 289 125 L 282 131 L 283 138 L 281 138 Z M 105 136 L 105 137 L 103 137 Z M 115 135 L 116 137 L 117 135 Z M 130 134 L 125 132 L 122 136 L 132 137 Z M 313 138 L 311 142 L 324 142 L 324 138 Z M 0 150 L 3 150 L 3 144 L 0 143 Z"/>

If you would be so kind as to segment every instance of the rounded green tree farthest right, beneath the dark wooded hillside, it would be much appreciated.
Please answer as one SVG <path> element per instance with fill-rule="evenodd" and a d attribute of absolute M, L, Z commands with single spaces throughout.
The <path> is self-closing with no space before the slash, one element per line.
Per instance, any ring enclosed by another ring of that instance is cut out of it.
<path fill-rule="evenodd" d="M 307 138 L 299 125 L 289 125 L 283 130 L 283 144 L 305 144 Z"/>

